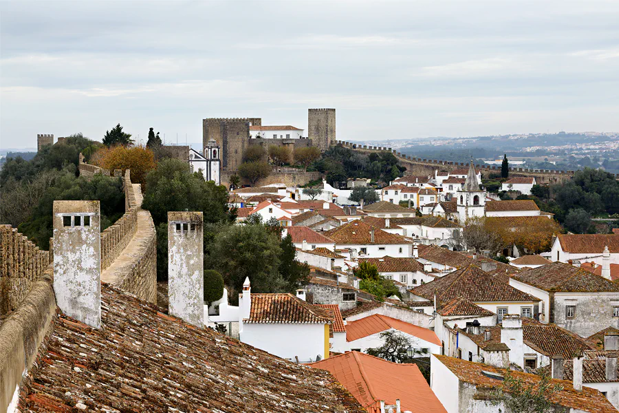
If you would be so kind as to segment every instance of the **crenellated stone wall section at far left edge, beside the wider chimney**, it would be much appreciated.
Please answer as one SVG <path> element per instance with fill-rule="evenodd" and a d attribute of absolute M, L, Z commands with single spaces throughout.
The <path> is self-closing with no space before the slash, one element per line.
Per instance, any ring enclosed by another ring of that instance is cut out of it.
<path fill-rule="evenodd" d="M 50 262 L 50 251 L 40 250 L 12 226 L 0 225 L 0 317 L 19 307 Z"/>

